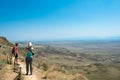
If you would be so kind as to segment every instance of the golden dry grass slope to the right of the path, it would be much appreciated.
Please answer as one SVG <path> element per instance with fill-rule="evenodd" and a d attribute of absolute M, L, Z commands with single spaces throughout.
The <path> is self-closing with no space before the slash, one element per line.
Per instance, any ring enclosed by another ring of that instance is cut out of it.
<path fill-rule="evenodd" d="M 47 66 L 46 69 L 44 69 L 45 66 Z M 43 79 L 49 79 L 49 80 L 88 80 L 84 76 L 84 74 L 66 73 L 65 69 L 59 68 L 58 65 L 50 64 L 47 61 L 41 61 L 41 64 L 39 63 L 39 68 L 40 68 L 40 72 L 38 72 L 38 73 L 39 73 L 39 75 L 41 75 L 40 78 L 43 78 Z"/>

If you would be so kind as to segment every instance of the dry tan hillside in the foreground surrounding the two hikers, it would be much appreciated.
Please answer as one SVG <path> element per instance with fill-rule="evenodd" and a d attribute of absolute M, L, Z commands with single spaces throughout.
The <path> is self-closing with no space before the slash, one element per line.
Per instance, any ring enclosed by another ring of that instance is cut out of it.
<path fill-rule="evenodd" d="M 12 43 L 10 43 L 5 37 L 0 37 L 0 45 L 2 46 L 0 48 L 0 80 L 16 80 L 14 79 L 17 76 L 17 73 L 12 71 L 12 65 L 9 64 L 8 60 L 6 57 L 10 57 L 11 54 L 11 49 L 13 46 Z M 23 47 L 24 48 L 24 47 Z M 19 57 L 19 61 L 22 61 L 20 63 L 20 65 L 22 66 L 23 64 L 23 68 L 22 71 L 24 70 L 25 72 L 25 61 L 24 61 L 24 51 L 23 48 L 19 47 L 19 51 L 20 51 L 20 57 Z M 41 50 L 39 51 L 35 51 L 36 55 L 34 56 L 34 74 L 32 76 L 26 76 L 24 75 L 25 73 L 22 73 L 24 80 L 33 80 L 33 78 L 36 78 L 35 80 L 88 80 L 87 77 L 80 73 L 70 73 L 69 70 L 67 70 L 66 67 L 62 66 L 63 64 L 57 64 L 57 63 L 53 63 L 51 59 L 51 57 L 55 57 L 53 56 L 54 53 L 65 53 L 66 50 L 64 50 L 63 52 L 57 51 L 57 50 L 53 50 L 53 48 L 50 47 L 46 47 L 46 48 L 40 48 L 38 47 L 38 49 L 36 50 Z M 52 49 L 52 50 L 51 50 Z M 41 54 L 40 54 L 41 53 Z M 45 54 L 44 54 L 45 53 Z M 51 54 L 49 54 L 51 53 Z M 53 54 L 52 54 L 53 53 Z M 45 57 L 47 55 L 51 55 L 51 57 Z M 40 57 L 38 57 L 40 56 Z M 59 55 L 58 55 L 59 56 Z M 59 57 L 64 57 L 63 56 L 59 56 Z M 44 59 L 46 58 L 46 59 Z M 48 60 L 47 60 L 48 59 Z M 62 59 L 60 59 L 62 60 Z M 60 60 L 58 60 L 57 62 L 61 62 Z M 50 62 L 48 62 L 50 61 Z M 56 61 L 56 60 L 53 60 Z M 67 63 L 67 62 L 66 62 Z M 68 64 L 67 64 L 68 65 Z M 10 79 L 6 76 L 11 77 Z M 30 79 L 27 79 L 27 78 Z"/>

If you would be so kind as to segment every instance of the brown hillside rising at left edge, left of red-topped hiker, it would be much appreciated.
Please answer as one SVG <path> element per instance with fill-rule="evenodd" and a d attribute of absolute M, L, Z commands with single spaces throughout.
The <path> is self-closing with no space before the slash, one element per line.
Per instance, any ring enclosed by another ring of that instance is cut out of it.
<path fill-rule="evenodd" d="M 13 46 L 13 44 L 10 43 L 7 38 L 0 36 L 0 80 L 5 80 L 3 76 L 8 70 L 7 56 L 11 54 L 11 46 Z"/>

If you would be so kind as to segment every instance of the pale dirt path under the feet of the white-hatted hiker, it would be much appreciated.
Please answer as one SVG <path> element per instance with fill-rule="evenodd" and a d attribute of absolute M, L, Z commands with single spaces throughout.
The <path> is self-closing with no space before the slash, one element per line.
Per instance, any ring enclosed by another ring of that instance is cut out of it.
<path fill-rule="evenodd" d="M 24 80 L 38 80 L 34 73 L 33 75 L 26 75 L 26 67 L 24 63 L 20 63 L 20 67 Z"/>

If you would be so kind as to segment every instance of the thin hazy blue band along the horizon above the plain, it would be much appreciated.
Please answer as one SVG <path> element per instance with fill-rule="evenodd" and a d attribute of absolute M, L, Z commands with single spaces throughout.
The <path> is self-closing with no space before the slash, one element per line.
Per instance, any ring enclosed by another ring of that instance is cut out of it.
<path fill-rule="evenodd" d="M 7 37 L 6 37 L 7 38 Z M 8 38 L 7 38 L 8 39 Z M 9 40 L 9 39 L 8 39 Z M 45 40 L 9 40 L 11 42 L 118 42 L 120 37 L 109 37 L 109 38 L 74 38 L 74 39 L 45 39 Z"/>

